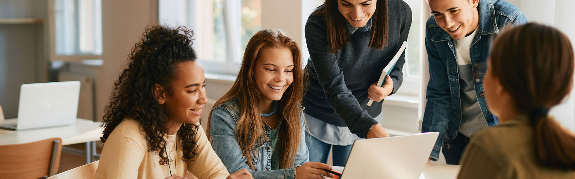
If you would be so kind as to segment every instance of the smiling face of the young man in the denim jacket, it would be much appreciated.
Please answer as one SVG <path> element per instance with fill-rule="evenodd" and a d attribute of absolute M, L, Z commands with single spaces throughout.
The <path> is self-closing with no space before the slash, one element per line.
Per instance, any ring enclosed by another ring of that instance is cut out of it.
<path fill-rule="evenodd" d="M 477 29 L 479 0 L 429 0 L 431 13 L 440 28 L 459 40 Z"/>

